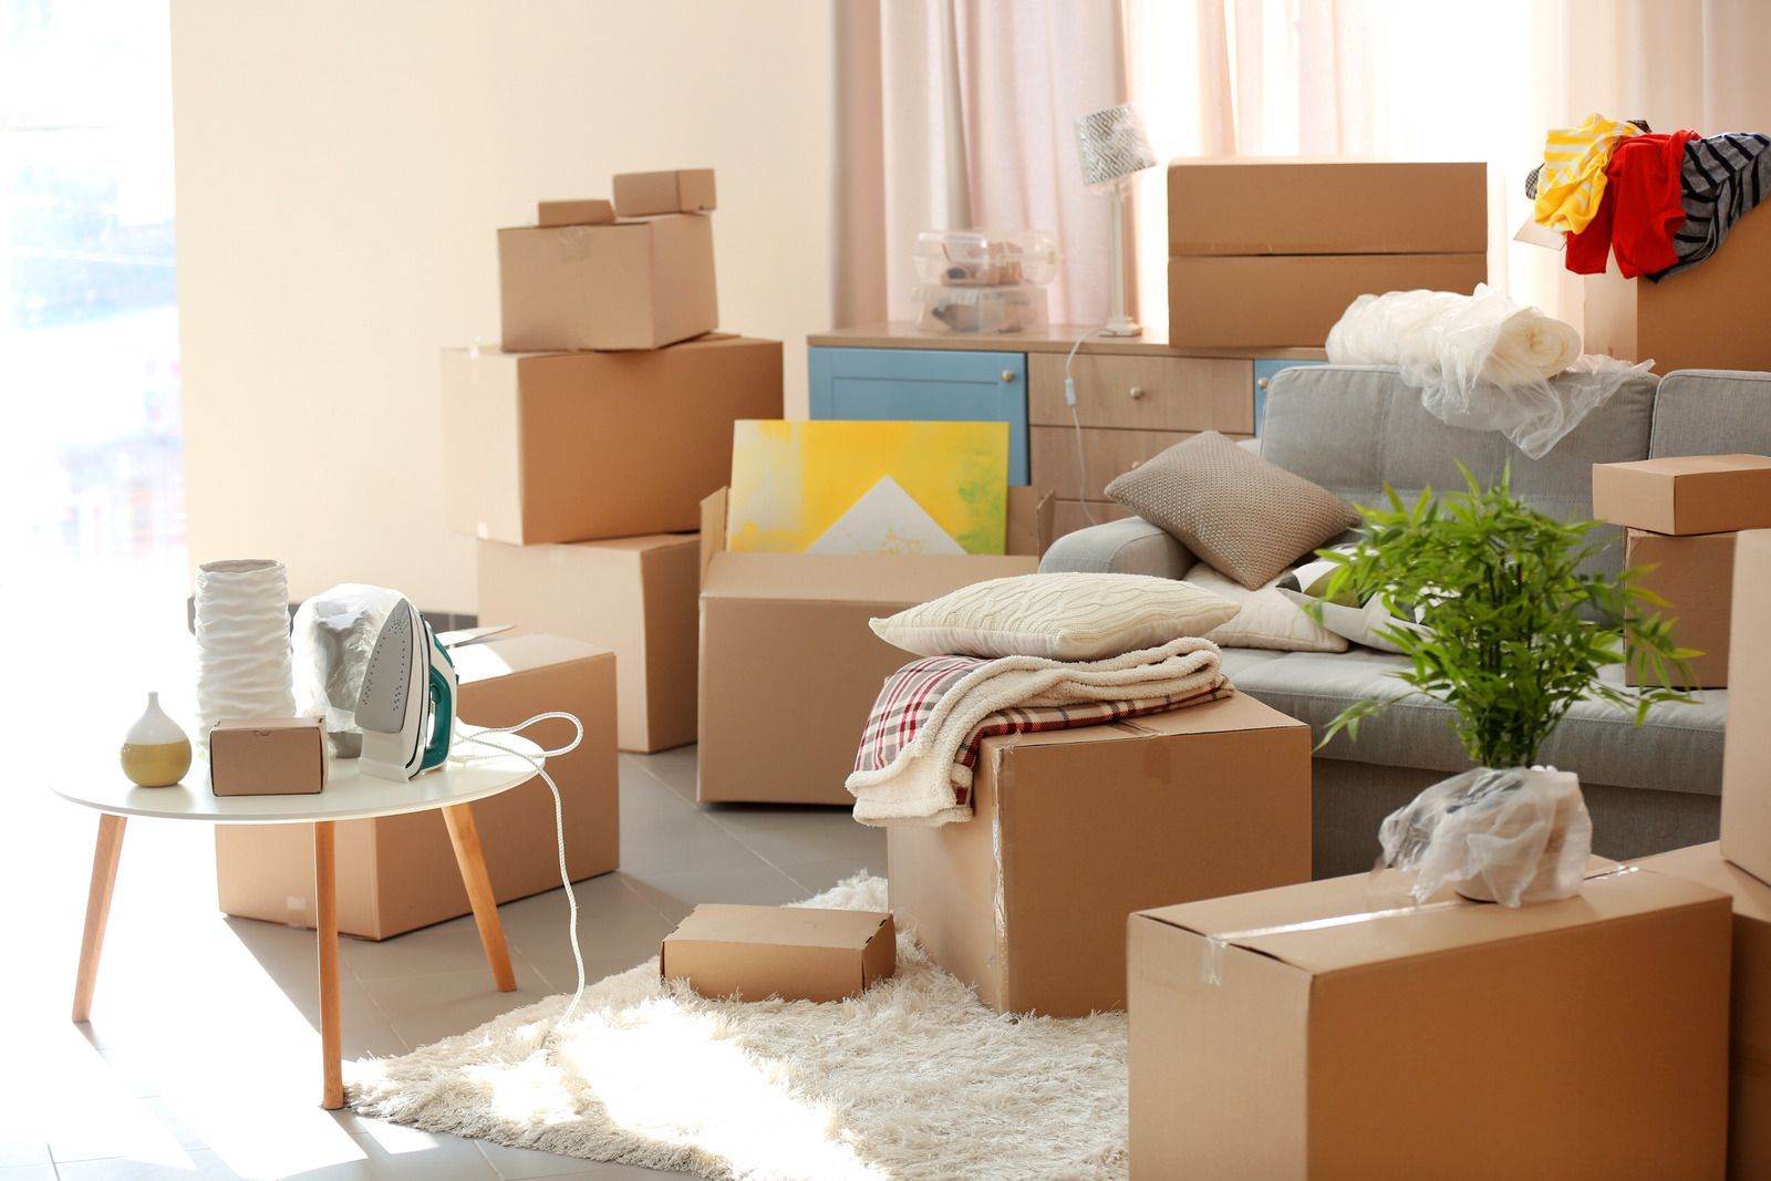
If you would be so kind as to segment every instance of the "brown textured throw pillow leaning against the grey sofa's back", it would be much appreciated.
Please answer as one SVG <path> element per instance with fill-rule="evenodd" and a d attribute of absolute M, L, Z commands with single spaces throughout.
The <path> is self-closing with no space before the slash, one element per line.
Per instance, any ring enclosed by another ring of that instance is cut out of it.
<path fill-rule="evenodd" d="M 1249 588 L 1358 524 L 1344 499 L 1215 430 L 1176 443 L 1107 496 Z"/>

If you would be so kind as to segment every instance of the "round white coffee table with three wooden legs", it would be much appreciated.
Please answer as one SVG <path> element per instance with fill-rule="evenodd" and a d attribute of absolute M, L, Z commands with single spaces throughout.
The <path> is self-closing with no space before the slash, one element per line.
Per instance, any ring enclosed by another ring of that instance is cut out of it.
<path fill-rule="evenodd" d="M 499 735 L 499 745 L 524 751 L 542 761 L 540 747 L 526 738 Z M 64 783 L 53 790 L 66 800 L 99 813 L 97 850 L 92 853 L 92 885 L 87 892 L 87 926 L 80 940 L 80 974 L 74 977 L 74 1022 L 92 1011 L 92 986 L 99 972 L 104 921 L 110 917 L 112 885 L 122 853 L 122 830 L 129 816 L 158 820 L 200 820 L 207 823 L 310 823 L 313 825 L 313 896 L 321 967 L 321 1055 L 324 1073 L 322 1107 L 344 1107 L 344 1068 L 338 1032 L 338 887 L 335 876 L 335 825 L 340 820 L 370 820 L 437 809 L 455 846 L 455 864 L 473 903 L 473 921 L 480 928 L 492 981 L 499 992 L 514 992 L 517 977 L 505 947 L 505 928 L 498 919 L 498 899 L 485 873 L 480 832 L 473 823 L 473 800 L 508 791 L 535 776 L 535 768 L 514 754 L 475 751 L 471 763 L 446 763 L 411 783 L 391 783 L 363 776 L 356 760 L 328 765 L 326 790 L 317 795 L 228 795 L 209 790 L 209 767 L 191 765 L 182 783 L 170 788 L 138 788 L 115 767 L 94 774 L 85 783 Z M 487 758 L 478 758 L 487 754 Z"/>

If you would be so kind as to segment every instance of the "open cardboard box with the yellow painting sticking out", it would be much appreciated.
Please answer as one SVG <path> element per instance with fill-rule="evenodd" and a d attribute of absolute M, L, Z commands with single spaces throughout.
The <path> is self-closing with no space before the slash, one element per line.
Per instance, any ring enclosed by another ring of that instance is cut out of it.
<path fill-rule="evenodd" d="M 1052 503 L 1009 489 L 1008 554 L 733 554 L 703 503 L 698 799 L 854 804 L 843 781 L 880 685 L 916 657 L 868 620 L 1034 574 Z"/>

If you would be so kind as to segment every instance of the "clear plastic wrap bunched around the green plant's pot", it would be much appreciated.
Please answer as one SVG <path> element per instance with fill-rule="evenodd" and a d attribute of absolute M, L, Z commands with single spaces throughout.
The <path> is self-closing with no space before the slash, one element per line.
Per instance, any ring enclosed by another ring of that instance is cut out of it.
<path fill-rule="evenodd" d="M 1479 767 L 1390 813 L 1378 839 L 1380 868 L 1415 871 L 1415 901 L 1450 885 L 1466 898 L 1518 907 L 1580 892 L 1592 818 L 1569 772 Z"/>

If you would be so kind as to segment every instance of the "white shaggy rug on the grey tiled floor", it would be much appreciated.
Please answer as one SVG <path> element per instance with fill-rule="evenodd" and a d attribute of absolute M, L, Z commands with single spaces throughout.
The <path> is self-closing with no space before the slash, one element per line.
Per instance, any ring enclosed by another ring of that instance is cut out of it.
<path fill-rule="evenodd" d="M 855 876 L 808 907 L 886 910 Z M 705 1000 L 650 960 L 395 1059 L 347 1066 L 365 1114 L 701 1177 L 1123 1177 L 1126 1018 L 1006 1018 L 898 935 L 838 1004 Z M 544 1045 L 554 1032 L 551 1048 Z"/>

